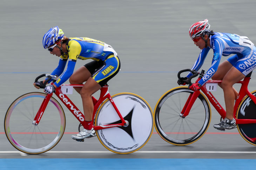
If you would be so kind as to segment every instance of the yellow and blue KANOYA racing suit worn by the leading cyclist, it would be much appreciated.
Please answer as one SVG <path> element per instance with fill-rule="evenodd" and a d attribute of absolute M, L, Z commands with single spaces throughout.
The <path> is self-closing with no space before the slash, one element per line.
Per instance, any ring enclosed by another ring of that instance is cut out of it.
<path fill-rule="evenodd" d="M 60 74 L 62 74 L 62 72 L 64 71 L 66 63 L 68 61 L 66 71 L 54 83 L 56 87 L 59 87 L 62 83 L 67 81 L 69 77 L 73 74 L 75 63 L 78 59 L 93 59 L 96 61 L 102 60 L 105 62 L 106 68 L 103 67 L 102 73 L 97 74 L 97 77 L 96 75 L 94 75 L 93 77 L 97 82 L 100 82 L 101 80 L 106 79 L 106 77 L 113 75 L 113 72 L 117 73 L 119 71 L 118 68 L 120 68 L 120 61 L 119 59 L 117 59 L 118 57 L 116 51 L 112 48 L 112 46 L 104 42 L 87 37 L 76 37 L 69 38 L 66 42 L 66 47 L 67 53 L 64 53 L 60 57 L 58 67 L 51 73 L 52 75 L 60 76 Z M 114 67 L 115 69 L 112 68 L 111 72 L 109 71 L 108 74 L 106 74 L 107 71 L 104 70 L 109 70 L 110 67 Z"/>

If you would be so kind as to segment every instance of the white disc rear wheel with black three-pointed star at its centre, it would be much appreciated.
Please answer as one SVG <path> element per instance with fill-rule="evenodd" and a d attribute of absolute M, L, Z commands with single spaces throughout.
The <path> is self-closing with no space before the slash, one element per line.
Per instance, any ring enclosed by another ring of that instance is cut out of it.
<path fill-rule="evenodd" d="M 136 94 L 119 93 L 112 96 L 112 99 L 129 125 L 97 130 L 97 137 L 105 148 L 114 153 L 133 153 L 146 145 L 150 139 L 154 128 L 152 110 L 149 104 Z M 121 123 L 109 99 L 100 106 L 95 123 L 97 126 Z"/>

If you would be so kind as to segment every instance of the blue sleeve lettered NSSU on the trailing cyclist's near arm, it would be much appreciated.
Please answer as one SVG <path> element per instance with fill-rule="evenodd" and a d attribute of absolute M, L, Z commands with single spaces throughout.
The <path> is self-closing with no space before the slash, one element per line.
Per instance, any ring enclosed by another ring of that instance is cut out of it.
<path fill-rule="evenodd" d="M 211 67 L 208 69 L 206 74 L 204 74 L 202 79 L 198 81 L 200 85 L 203 85 L 204 83 L 206 83 L 216 73 L 217 68 L 220 64 L 224 47 L 225 46 L 222 40 L 218 40 L 217 38 L 213 40 L 213 52 L 214 52 L 213 61 L 211 62 Z"/>

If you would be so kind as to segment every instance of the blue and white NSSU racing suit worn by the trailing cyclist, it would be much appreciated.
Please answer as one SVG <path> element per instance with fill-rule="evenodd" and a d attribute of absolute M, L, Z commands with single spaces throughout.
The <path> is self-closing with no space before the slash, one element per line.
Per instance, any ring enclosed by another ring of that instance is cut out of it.
<path fill-rule="evenodd" d="M 214 35 L 211 35 L 209 39 L 210 47 L 206 47 L 201 50 L 198 59 L 192 67 L 192 69 L 198 71 L 203 65 L 209 50 L 213 49 L 214 55 L 211 67 L 198 82 L 199 84 L 203 85 L 214 75 L 214 73 L 216 73 L 218 65 L 220 64 L 221 56 L 235 54 L 232 58 L 236 58 L 236 61 L 239 62 L 232 63 L 231 61 L 228 61 L 244 75 L 247 75 L 256 67 L 256 47 L 248 37 L 214 32 Z M 189 73 L 187 77 L 190 77 L 191 75 L 192 74 Z"/>

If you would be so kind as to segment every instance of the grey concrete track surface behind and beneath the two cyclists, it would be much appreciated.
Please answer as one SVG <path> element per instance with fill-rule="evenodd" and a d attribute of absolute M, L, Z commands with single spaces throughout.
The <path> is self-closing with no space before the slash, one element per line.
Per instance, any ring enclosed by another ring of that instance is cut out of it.
<path fill-rule="evenodd" d="M 42 47 L 45 32 L 58 25 L 67 37 L 90 37 L 114 47 L 121 60 L 121 71 L 109 82 L 110 94 L 130 92 L 142 96 L 154 110 L 158 99 L 177 86 L 177 72 L 191 68 L 200 50 L 188 35 L 191 24 L 208 19 L 215 32 L 248 36 L 256 43 L 255 0 L 2 0 L 0 5 L 0 158 L 255 158 L 245 153 L 204 153 L 207 151 L 256 151 L 239 134 L 206 134 L 189 146 L 173 146 L 156 134 L 139 151 L 177 151 L 177 153 L 44 153 L 21 156 L 7 141 L 4 116 L 18 96 L 37 90 L 32 83 L 36 76 L 50 73 L 58 64 Z M 203 69 L 210 67 L 211 55 Z M 225 57 L 222 58 L 224 61 Z M 76 68 L 88 61 L 78 61 Z M 254 74 L 252 74 L 254 77 Z M 255 90 L 252 79 L 249 90 Z M 216 98 L 224 106 L 222 90 Z M 97 96 L 97 94 L 96 94 Z M 72 98 L 82 108 L 80 97 Z M 220 116 L 212 108 L 208 132 L 216 132 L 212 124 Z M 66 110 L 66 132 L 76 132 L 78 122 Z M 18 127 L 17 127 L 18 128 Z M 230 132 L 237 132 L 231 130 Z M 107 151 L 97 138 L 75 142 L 65 134 L 51 151 Z M 178 153 L 178 151 L 195 151 Z M 196 153 L 196 151 L 202 151 Z"/>

